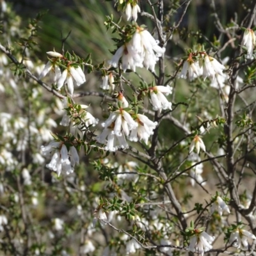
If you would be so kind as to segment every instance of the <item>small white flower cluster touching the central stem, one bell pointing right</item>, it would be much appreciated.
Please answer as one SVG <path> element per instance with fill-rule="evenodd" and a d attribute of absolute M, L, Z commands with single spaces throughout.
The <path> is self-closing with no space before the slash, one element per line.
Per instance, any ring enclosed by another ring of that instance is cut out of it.
<path fill-rule="evenodd" d="M 172 110 L 172 102 L 169 102 L 164 94 L 169 95 L 172 93 L 172 87 L 170 86 L 154 86 L 150 88 L 150 102 L 153 105 L 155 111 L 161 109 Z"/>

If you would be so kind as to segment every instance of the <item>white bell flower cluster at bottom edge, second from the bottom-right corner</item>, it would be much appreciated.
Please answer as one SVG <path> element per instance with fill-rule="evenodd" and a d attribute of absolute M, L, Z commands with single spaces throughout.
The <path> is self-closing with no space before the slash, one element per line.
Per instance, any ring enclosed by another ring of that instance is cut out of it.
<path fill-rule="evenodd" d="M 205 231 L 200 232 L 190 237 L 188 250 L 191 252 L 198 252 L 203 256 L 204 252 L 211 250 L 213 241 L 214 237 L 209 236 Z"/>

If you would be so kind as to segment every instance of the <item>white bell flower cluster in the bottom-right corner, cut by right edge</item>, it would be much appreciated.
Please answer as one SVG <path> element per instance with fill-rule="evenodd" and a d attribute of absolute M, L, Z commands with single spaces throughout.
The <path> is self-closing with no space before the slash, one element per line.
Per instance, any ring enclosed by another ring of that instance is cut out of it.
<path fill-rule="evenodd" d="M 233 246 L 240 248 L 243 245 L 244 250 L 248 250 L 248 237 L 250 239 L 256 239 L 256 237 L 249 231 L 237 228 L 230 234 L 229 243 Z"/>

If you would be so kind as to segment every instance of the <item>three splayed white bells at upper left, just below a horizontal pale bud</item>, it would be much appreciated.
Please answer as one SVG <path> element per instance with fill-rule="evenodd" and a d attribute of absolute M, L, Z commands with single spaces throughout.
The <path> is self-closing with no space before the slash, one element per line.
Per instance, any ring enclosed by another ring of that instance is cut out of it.
<path fill-rule="evenodd" d="M 63 70 L 61 77 L 57 83 L 58 90 L 61 89 L 65 81 L 67 81 L 68 90 L 72 95 L 74 92 L 74 82 L 76 83 L 77 86 L 80 86 L 86 81 L 82 68 L 80 66 L 76 68 L 72 66 L 68 66 L 68 68 Z"/>

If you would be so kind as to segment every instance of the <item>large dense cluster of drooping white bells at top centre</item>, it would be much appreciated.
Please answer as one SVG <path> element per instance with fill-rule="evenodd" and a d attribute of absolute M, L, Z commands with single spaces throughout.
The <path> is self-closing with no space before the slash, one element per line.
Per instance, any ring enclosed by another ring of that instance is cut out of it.
<path fill-rule="evenodd" d="M 122 58 L 122 69 L 127 68 L 135 72 L 136 67 L 150 68 L 155 70 L 156 62 L 165 52 L 164 47 L 160 47 L 159 42 L 145 28 L 136 28 L 131 40 L 117 49 L 109 64 L 118 66 L 118 61 Z"/>

